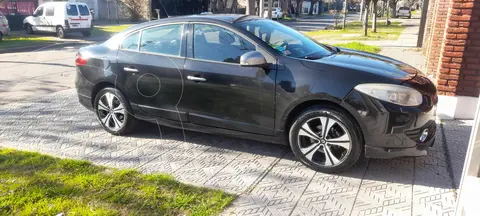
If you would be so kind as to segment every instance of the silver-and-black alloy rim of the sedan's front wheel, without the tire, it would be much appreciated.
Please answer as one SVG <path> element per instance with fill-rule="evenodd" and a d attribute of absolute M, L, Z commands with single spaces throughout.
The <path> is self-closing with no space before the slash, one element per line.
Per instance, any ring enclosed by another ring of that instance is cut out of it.
<path fill-rule="evenodd" d="M 299 130 L 298 145 L 302 155 L 319 166 L 337 166 L 350 154 L 350 134 L 345 125 L 334 118 L 311 118 Z"/>

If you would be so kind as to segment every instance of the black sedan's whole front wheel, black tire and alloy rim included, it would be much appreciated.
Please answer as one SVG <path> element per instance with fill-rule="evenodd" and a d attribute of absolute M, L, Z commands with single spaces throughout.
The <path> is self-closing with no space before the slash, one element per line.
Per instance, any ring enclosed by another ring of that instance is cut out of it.
<path fill-rule="evenodd" d="M 328 128 L 326 134 L 322 134 L 324 125 Z M 353 166 L 362 154 L 363 139 L 356 125 L 350 115 L 339 109 L 313 106 L 299 114 L 291 126 L 290 147 L 300 162 L 313 170 L 341 172 Z"/>

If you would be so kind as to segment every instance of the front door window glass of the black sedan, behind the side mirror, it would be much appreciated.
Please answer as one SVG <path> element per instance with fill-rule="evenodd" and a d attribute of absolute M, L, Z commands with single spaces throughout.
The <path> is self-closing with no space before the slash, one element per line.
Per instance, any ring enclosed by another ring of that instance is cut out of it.
<path fill-rule="evenodd" d="M 240 56 L 254 51 L 255 45 L 225 28 L 195 24 L 193 56 L 195 59 L 240 63 Z"/>

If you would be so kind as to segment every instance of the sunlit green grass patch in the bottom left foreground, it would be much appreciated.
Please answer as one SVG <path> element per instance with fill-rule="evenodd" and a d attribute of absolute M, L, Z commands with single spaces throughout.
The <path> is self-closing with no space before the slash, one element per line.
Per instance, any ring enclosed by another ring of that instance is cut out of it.
<path fill-rule="evenodd" d="M 215 215 L 234 198 L 165 174 L 0 149 L 0 215 Z"/>

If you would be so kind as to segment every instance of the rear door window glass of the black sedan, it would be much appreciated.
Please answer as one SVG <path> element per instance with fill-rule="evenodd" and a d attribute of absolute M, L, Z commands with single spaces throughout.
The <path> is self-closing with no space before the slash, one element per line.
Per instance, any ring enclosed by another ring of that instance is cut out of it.
<path fill-rule="evenodd" d="M 180 55 L 183 24 L 165 25 L 143 30 L 140 51 Z"/>

